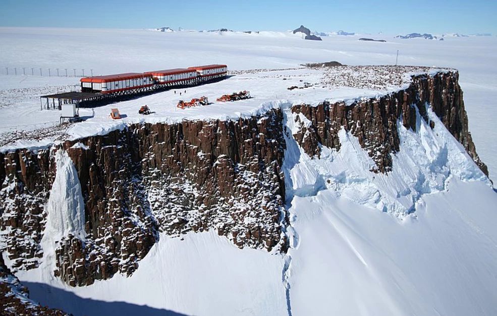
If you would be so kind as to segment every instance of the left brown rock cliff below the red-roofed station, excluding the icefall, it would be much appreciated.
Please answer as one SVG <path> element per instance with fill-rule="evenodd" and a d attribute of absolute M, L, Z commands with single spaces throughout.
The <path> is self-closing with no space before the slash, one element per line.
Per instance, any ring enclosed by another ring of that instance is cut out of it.
<path fill-rule="evenodd" d="M 38 153 L 2 155 L 1 224 L 9 233 L 2 240 L 9 258 L 17 268 L 38 264 L 59 148 L 74 163 L 85 203 L 85 240 L 65 236 L 56 249 L 55 274 L 72 286 L 132 274 L 158 232 L 216 229 L 239 247 L 285 251 L 282 121 L 282 111 L 273 110 L 238 121 L 135 124 Z M 31 169 L 23 176 L 25 165 Z M 11 201 L 26 194 L 35 202 Z M 34 237 L 23 239 L 23 229 Z M 35 257 L 33 264 L 26 257 Z"/>

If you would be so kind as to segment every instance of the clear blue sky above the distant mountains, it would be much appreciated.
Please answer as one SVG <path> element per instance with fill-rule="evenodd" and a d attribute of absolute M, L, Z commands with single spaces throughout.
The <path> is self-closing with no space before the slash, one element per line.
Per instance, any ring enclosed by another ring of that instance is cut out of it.
<path fill-rule="evenodd" d="M 0 0 L 0 26 L 497 34 L 497 0 Z"/>

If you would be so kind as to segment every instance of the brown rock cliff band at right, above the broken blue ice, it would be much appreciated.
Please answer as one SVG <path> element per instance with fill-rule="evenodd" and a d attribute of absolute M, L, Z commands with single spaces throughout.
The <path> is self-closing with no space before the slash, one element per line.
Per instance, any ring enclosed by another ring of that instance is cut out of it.
<path fill-rule="evenodd" d="M 323 102 L 317 107 L 307 104 L 292 108 L 310 121 L 297 121 L 300 131 L 294 135 L 310 156 L 319 156 L 318 144 L 340 149 L 338 132 L 341 128 L 351 132 L 376 163 L 374 172 L 392 170 L 391 153 L 399 151 L 398 120 L 406 128 L 416 130 L 416 111 L 428 122 L 425 104 L 428 103 L 451 134 L 464 146 L 481 171 L 488 176 L 485 164 L 479 159 L 468 130 L 468 117 L 464 109 L 463 92 L 457 72 L 413 76 L 405 90 L 379 98 L 362 99 L 353 104 Z"/>

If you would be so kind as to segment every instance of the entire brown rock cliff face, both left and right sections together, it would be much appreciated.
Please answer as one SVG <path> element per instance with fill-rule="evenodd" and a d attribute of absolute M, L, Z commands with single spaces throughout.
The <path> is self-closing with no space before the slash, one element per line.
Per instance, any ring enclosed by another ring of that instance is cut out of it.
<path fill-rule="evenodd" d="M 300 125 L 293 136 L 318 157 L 319 144 L 340 149 L 344 128 L 376 163 L 372 171 L 386 173 L 400 146 L 398 122 L 415 130 L 421 117 L 433 128 L 429 104 L 486 173 L 457 80 L 451 72 L 416 76 L 405 90 L 350 106 L 293 106 Z M 283 111 L 272 110 L 238 121 L 136 124 L 37 152 L 0 153 L 0 240 L 12 268 L 36 268 L 42 257 L 45 205 L 60 149 L 74 164 L 85 206 L 86 237 L 69 234 L 56 246 L 54 273 L 71 286 L 132 274 L 159 232 L 215 229 L 239 247 L 285 252 L 283 121 Z"/>

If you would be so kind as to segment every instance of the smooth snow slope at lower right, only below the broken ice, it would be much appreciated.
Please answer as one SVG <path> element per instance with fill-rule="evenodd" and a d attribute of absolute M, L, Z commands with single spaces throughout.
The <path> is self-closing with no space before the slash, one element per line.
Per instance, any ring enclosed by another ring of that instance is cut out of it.
<path fill-rule="evenodd" d="M 293 314 L 495 315 L 496 203 L 460 180 L 404 221 L 331 190 L 296 197 Z"/>

